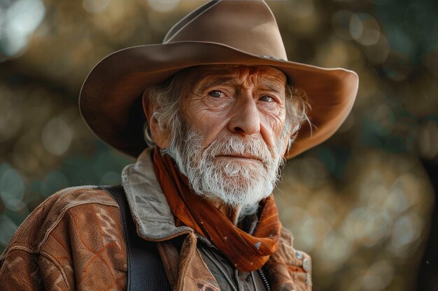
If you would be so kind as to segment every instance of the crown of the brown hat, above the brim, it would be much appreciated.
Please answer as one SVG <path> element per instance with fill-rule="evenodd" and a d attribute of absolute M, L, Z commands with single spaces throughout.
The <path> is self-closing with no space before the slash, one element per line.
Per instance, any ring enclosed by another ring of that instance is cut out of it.
<path fill-rule="evenodd" d="M 209 1 L 172 27 L 163 43 L 219 43 L 262 57 L 287 60 L 274 14 L 267 3 Z"/>

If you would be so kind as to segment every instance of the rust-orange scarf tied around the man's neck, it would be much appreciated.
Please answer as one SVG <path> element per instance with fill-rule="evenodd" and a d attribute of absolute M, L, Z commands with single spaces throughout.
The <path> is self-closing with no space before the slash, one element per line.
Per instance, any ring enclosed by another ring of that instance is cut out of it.
<path fill-rule="evenodd" d="M 209 239 L 240 271 L 260 269 L 275 253 L 280 237 L 274 196 L 264 200 L 257 227 L 250 235 L 236 227 L 206 199 L 192 193 L 187 177 L 183 176 L 169 156 L 162 156 L 155 149 L 154 170 L 177 223 L 192 227 Z"/>

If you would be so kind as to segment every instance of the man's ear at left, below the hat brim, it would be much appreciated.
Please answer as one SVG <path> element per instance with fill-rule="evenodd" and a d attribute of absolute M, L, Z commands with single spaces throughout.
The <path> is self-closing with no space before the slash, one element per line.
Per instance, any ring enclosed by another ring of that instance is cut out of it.
<path fill-rule="evenodd" d="M 155 111 L 155 105 L 150 102 L 149 98 L 149 91 L 146 90 L 143 93 L 141 103 L 143 105 L 143 112 L 146 115 L 146 120 L 148 121 L 148 126 L 150 128 L 150 135 L 157 144 L 160 149 L 167 149 L 169 147 L 170 143 L 170 133 L 169 130 L 164 130 L 158 126 L 157 119 L 153 117 L 153 113 Z"/>

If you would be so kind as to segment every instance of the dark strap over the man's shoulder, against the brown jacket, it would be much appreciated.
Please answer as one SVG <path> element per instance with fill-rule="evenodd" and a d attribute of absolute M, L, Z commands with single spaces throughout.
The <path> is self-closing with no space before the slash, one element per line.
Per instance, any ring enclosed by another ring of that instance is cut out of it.
<path fill-rule="evenodd" d="M 122 185 L 101 186 L 120 206 L 127 249 L 127 291 L 171 290 L 157 244 L 139 237 Z"/>

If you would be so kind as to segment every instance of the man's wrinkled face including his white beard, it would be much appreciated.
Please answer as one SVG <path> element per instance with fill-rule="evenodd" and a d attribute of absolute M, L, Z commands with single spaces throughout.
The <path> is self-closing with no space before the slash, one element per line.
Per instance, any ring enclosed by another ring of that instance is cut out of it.
<path fill-rule="evenodd" d="M 169 154 L 192 188 L 239 207 L 267 197 L 289 137 L 285 75 L 267 66 L 202 66 L 185 80 L 192 86 L 181 100 L 184 133 Z"/>

